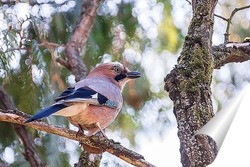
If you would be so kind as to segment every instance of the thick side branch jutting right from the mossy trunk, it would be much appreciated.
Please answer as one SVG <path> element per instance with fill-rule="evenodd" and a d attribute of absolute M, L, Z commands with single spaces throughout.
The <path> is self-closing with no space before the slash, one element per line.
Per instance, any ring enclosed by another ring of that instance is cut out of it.
<path fill-rule="evenodd" d="M 250 42 L 234 42 L 212 47 L 214 68 L 219 69 L 227 63 L 250 60 Z"/>

